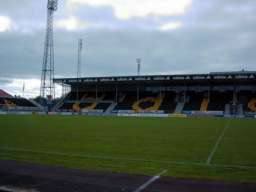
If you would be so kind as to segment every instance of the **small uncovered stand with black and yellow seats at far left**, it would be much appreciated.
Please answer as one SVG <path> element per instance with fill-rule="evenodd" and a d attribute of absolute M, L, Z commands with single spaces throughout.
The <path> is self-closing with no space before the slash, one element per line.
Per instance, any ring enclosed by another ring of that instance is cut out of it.
<path fill-rule="evenodd" d="M 1 111 L 41 111 L 41 108 L 38 108 L 32 102 L 20 96 L 12 96 L 0 89 Z"/>

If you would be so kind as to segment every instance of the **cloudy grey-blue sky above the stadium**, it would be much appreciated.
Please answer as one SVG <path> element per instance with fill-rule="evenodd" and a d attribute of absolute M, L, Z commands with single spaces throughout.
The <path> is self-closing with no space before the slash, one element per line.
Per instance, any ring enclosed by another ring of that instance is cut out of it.
<path fill-rule="evenodd" d="M 255 0 L 58 0 L 55 78 L 256 70 Z M 47 0 L 0 0 L 0 89 L 38 96 Z M 55 87 L 61 96 L 61 87 Z"/>

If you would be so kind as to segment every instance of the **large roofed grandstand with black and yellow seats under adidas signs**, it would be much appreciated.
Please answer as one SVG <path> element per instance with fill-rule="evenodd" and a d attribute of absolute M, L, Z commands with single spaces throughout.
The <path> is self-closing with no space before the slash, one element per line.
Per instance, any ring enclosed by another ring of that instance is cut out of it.
<path fill-rule="evenodd" d="M 164 113 L 256 111 L 256 71 L 193 75 L 54 79 L 63 100 L 53 111 L 149 110 Z"/>

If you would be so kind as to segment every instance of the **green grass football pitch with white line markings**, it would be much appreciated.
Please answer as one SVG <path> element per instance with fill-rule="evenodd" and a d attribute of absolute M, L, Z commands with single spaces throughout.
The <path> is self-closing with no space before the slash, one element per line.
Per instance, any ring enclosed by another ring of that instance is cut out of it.
<path fill-rule="evenodd" d="M 256 119 L 1 115 L 0 159 L 256 182 Z"/>

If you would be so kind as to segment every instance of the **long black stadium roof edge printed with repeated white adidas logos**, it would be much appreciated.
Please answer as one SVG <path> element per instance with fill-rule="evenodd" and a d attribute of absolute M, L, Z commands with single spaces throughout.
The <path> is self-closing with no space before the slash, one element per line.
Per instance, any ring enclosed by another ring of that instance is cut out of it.
<path fill-rule="evenodd" d="M 255 83 L 256 71 L 217 72 L 209 74 L 159 75 L 159 76 L 111 76 L 53 79 L 59 84 L 211 84 Z"/>

